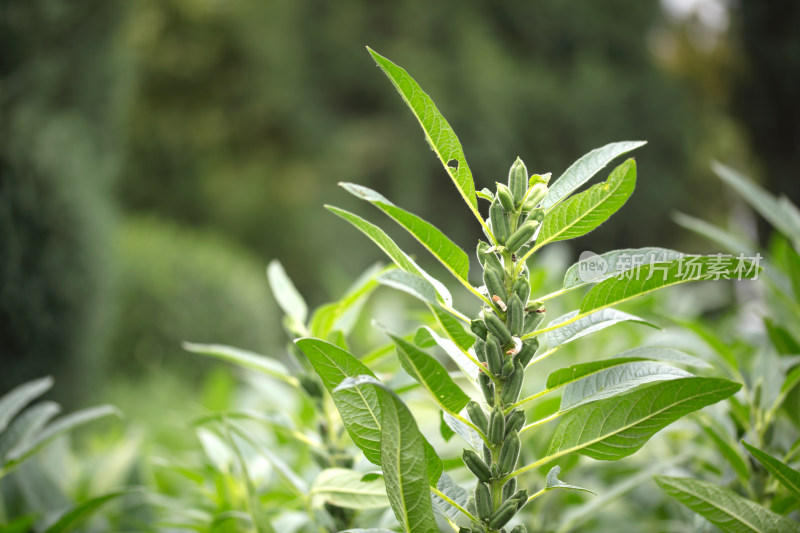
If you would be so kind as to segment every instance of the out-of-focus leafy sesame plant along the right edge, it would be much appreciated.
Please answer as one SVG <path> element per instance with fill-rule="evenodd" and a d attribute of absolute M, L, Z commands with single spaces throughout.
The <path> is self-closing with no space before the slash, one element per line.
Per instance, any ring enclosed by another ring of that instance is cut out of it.
<path fill-rule="evenodd" d="M 688 468 L 703 479 L 660 475 L 656 481 L 723 531 L 800 532 L 800 210 L 731 168 L 719 163 L 712 168 L 770 223 L 772 246 L 762 250 L 768 262 L 763 294 L 749 294 L 737 306 L 727 335 L 709 331 L 700 321 L 687 323 L 711 348 L 721 370 L 743 386 L 722 416 L 698 421 L 713 453 L 695 454 Z M 746 228 L 722 228 L 683 214 L 677 221 L 726 253 L 759 249 Z M 761 327 L 742 332 L 738 325 L 744 321 Z"/>

